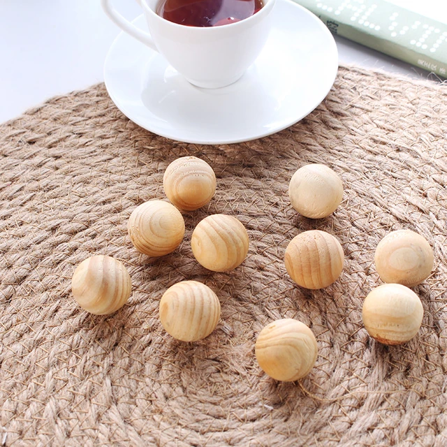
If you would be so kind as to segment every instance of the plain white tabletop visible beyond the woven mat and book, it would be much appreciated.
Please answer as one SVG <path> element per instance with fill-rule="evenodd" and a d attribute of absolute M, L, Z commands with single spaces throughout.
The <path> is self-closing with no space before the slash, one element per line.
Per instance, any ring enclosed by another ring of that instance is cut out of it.
<path fill-rule="evenodd" d="M 393 3 L 447 22 L 444 0 Z M 133 0 L 114 4 L 127 19 L 141 14 Z M 99 0 L 0 0 L 0 122 L 51 96 L 101 82 L 105 55 L 117 34 Z M 427 78 L 427 72 L 397 59 L 344 38 L 336 41 L 340 64 Z"/>

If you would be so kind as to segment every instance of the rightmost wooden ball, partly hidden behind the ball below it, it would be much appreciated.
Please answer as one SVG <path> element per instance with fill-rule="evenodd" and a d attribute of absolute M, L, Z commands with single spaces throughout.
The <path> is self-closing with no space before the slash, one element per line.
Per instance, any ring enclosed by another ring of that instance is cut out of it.
<path fill-rule="evenodd" d="M 379 242 L 374 263 L 382 281 L 417 286 L 432 272 L 433 250 L 418 233 L 397 230 Z"/>

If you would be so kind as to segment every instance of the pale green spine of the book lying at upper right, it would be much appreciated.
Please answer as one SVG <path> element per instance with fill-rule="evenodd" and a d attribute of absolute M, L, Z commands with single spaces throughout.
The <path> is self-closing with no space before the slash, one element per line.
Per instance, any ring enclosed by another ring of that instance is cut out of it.
<path fill-rule="evenodd" d="M 383 54 L 388 54 L 388 56 L 395 57 L 411 65 L 419 66 L 427 71 L 436 73 L 442 78 L 447 78 L 447 64 L 444 64 L 442 61 L 434 59 L 427 54 L 421 54 L 400 43 L 390 41 L 378 34 L 374 34 L 374 32 L 369 32 L 369 29 L 359 29 L 351 24 L 340 22 L 333 15 L 329 15 L 324 10 L 315 8 L 315 4 L 312 1 L 295 0 L 295 2 L 314 13 L 328 27 L 332 34 L 360 43 L 361 45 L 365 45 Z"/>

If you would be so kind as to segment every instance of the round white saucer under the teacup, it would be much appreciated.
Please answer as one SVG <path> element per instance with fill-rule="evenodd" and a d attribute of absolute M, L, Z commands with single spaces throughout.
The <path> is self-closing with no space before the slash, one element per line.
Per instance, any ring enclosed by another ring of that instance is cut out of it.
<path fill-rule="evenodd" d="M 286 129 L 328 94 L 337 47 L 323 22 L 297 3 L 277 0 L 272 14 L 261 55 L 221 89 L 193 87 L 160 54 L 119 34 L 104 66 L 110 98 L 133 122 L 172 140 L 217 145 Z M 133 23 L 147 29 L 143 16 Z"/>

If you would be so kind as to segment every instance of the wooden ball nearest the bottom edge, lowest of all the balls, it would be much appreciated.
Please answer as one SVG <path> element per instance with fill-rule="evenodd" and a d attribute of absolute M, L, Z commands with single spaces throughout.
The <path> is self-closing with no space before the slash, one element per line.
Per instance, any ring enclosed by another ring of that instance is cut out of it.
<path fill-rule="evenodd" d="M 318 346 L 307 325 L 284 318 L 273 321 L 259 332 L 255 353 L 265 374 L 291 382 L 309 374 L 315 365 Z"/>

